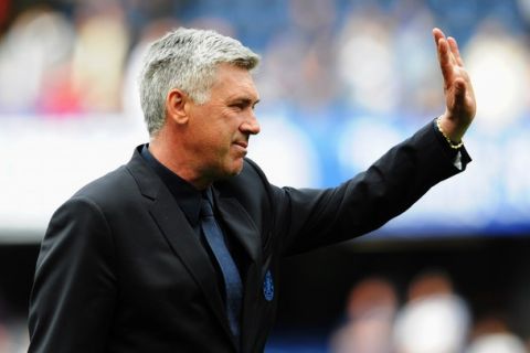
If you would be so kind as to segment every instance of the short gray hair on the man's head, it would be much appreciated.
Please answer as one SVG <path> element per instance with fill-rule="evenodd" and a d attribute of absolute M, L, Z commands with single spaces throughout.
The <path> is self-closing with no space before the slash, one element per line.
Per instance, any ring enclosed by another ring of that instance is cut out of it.
<path fill-rule="evenodd" d="M 248 71 L 259 56 L 241 42 L 214 31 L 179 28 L 149 47 L 140 74 L 140 101 L 149 135 L 166 122 L 166 96 L 182 89 L 197 104 L 204 104 L 219 64 L 227 63 Z"/>

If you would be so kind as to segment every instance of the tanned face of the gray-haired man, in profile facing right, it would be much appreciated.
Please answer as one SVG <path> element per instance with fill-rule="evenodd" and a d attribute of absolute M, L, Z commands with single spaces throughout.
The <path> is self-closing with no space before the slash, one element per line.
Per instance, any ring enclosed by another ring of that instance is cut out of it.
<path fill-rule="evenodd" d="M 258 100 L 247 69 L 221 64 L 206 103 L 187 103 L 187 151 L 200 178 L 214 181 L 241 172 L 250 136 L 259 132 Z"/>

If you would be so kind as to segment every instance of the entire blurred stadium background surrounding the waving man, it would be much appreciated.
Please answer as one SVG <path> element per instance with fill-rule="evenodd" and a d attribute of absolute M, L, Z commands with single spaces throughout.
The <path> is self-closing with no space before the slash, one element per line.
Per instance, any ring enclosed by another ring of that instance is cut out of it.
<path fill-rule="evenodd" d="M 474 162 L 374 234 L 286 259 L 267 352 L 528 351 L 530 0 L 0 0 L 0 352 L 26 350 L 53 211 L 147 141 L 139 61 L 179 25 L 262 55 L 250 157 L 316 188 L 443 111 L 431 30 L 455 36 Z"/>

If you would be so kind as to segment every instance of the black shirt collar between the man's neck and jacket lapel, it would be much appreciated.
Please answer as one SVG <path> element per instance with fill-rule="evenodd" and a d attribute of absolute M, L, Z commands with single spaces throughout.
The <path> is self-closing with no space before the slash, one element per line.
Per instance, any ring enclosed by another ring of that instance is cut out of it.
<path fill-rule="evenodd" d="M 198 225 L 202 192 L 160 163 L 149 151 L 149 145 L 144 145 L 140 154 L 168 186 L 190 224 Z"/>

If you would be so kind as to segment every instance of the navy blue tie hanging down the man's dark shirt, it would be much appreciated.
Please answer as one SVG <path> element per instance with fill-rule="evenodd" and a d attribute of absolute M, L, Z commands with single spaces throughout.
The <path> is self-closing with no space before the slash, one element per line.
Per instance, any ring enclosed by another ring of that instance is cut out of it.
<path fill-rule="evenodd" d="M 230 255 L 223 233 L 213 216 L 212 204 L 206 195 L 203 195 L 203 199 L 201 199 L 201 228 L 208 245 L 218 260 L 219 267 L 221 267 L 226 293 L 226 315 L 232 333 L 239 339 L 243 285 L 241 282 L 240 271 Z"/>

